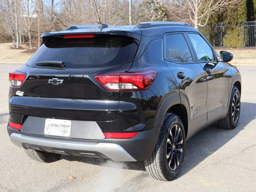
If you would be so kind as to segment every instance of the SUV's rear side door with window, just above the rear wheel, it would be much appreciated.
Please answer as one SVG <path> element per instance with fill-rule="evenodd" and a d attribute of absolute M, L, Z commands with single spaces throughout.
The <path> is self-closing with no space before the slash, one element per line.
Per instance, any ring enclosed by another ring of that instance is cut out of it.
<path fill-rule="evenodd" d="M 172 70 L 182 100 L 188 100 L 190 111 L 188 137 L 204 127 L 207 121 L 207 82 L 204 69 L 195 60 L 186 34 L 164 35 L 164 58 Z"/>

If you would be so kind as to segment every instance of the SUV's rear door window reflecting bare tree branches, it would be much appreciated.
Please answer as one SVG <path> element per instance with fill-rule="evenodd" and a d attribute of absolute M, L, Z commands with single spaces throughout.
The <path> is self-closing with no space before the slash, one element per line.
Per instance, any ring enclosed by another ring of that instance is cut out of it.
<path fill-rule="evenodd" d="M 193 61 L 183 34 L 166 35 L 166 55 L 173 62 Z"/>

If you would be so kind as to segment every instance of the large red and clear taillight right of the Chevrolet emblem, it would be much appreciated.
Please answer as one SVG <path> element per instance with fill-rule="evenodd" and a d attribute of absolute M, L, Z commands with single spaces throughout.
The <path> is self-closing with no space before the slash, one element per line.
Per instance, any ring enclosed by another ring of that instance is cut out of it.
<path fill-rule="evenodd" d="M 136 91 L 146 90 L 154 82 L 157 72 L 154 70 L 134 71 L 96 75 L 94 78 L 107 90 Z"/>

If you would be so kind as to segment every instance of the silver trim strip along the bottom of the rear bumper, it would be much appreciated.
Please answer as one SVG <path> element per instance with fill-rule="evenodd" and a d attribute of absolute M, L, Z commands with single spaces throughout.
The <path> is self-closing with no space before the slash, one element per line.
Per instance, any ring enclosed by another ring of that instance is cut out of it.
<path fill-rule="evenodd" d="M 100 152 L 114 161 L 136 161 L 124 148 L 114 143 L 89 143 L 78 141 L 56 140 L 51 138 L 40 138 L 36 136 L 26 136 L 12 133 L 10 140 L 20 148 L 24 148 L 22 143 L 50 148 L 82 150 Z"/>

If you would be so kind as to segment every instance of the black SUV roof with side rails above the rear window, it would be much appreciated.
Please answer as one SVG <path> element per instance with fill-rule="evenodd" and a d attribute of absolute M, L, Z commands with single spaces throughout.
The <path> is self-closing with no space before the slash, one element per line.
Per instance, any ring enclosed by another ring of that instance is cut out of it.
<path fill-rule="evenodd" d="M 128 26 L 111 26 L 99 28 L 99 25 L 76 25 L 69 26 L 64 31 L 48 32 L 41 37 L 56 36 L 62 34 L 82 34 L 82 33 L 106 33 L 106 34 L 123 34 L 136 38 L 138 35 L 143 36 L 162 36 L 167 32 L 198 32 L 189 24 L 181 22 L 144 22 L 139 25 Z"/>

